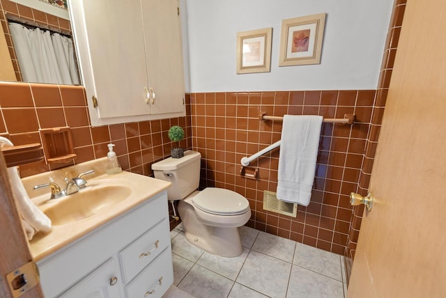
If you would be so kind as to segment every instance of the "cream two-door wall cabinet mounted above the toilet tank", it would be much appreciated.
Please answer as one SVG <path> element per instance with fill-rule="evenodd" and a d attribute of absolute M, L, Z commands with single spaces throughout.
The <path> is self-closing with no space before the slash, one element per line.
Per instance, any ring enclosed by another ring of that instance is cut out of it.
<path fill-rule="evenodd" d="M 93 125 L 185 116 L 179 0 L 72 0 L 70 14 Z"/>

